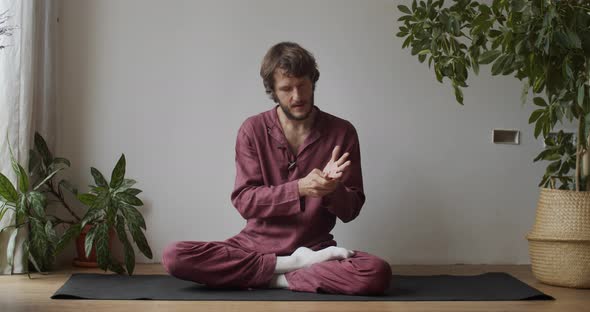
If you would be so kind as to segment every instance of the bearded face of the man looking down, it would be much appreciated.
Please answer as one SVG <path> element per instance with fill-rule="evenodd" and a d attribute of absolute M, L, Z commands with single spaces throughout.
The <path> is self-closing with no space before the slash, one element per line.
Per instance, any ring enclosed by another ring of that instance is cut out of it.
<path fill-rule="evenodd" d="M 274 74 L 279 106 L 291 120 L 305 120 L 313 112 L 313 85 L 309 77 L 292 77 L 283 70 Z"/>

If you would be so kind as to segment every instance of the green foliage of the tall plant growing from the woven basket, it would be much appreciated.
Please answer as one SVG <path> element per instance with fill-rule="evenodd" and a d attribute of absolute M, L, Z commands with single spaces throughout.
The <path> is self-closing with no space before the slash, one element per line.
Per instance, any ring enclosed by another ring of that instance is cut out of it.
<path fill-rule="evenodd" d="M 492 75 L 521 80 L 523 103 L 532 90 L 538 109 L 529 123 L 546 143 L 534 161 L 550 161 L 539 186 L 590 190 L 590 2 L 414 0 L 398 9 L 402 48 L 411 47 L 421 63 L 428 59 L 439 82 L 447 77 L 459 103 L 469 71 L 478 74 L 482 64 L 492 64 Z M 577 122 L 577 139 L 549 135 L 566 120 Z"/>

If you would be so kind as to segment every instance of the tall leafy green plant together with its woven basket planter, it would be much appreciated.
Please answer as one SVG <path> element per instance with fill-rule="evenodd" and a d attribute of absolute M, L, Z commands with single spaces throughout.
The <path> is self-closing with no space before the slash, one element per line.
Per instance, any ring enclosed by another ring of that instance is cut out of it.
<path fill-rule="evenodd" d="M 583 0 L 414 0 L 399 5 L 398 37 L 436 78 L 451 82 L 463 104 L 469 71 L 491 64 L 492 75 L 523 82 L 538 108 L 529 123 L 549 161 L 540 180 L 535 225 L 527 236 L 533 273 L 544 283 L 590 287 L 590 3 Z M 556 130 L 577 124 L 577 135 Z"/>

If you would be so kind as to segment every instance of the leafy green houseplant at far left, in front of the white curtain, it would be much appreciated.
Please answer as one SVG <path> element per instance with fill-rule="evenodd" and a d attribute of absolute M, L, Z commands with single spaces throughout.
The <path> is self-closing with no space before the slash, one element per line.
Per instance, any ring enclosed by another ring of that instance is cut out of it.
<path fill-rule="evenodd" d="M 8 140 L 7 140 L 8 141 Z M 65 158 L 53 157 L 43 138 L 35 134 L 35 147 L 29 153 L 29 173 L 16 162 L 12 147 L 9 143 L 10 159 L 17 183 L 13 185 L 10 180 L 0 173 L 0 219 L 7 215 L 9 210 L 14 212 L 10 225 L 0 229 L 0 232 L 9 231 L 9 240 L 6 256 L 9 265 L 14 263 L 16 237 L 21 231 L 28 231 L 29 235 L 23 243 L 23 262 L 31 263 L 38 272 L 51 269 L 56 254 L 68 243 L 68 236 L 59 236 L 56 227 L 59 225 L 74 226 L 81 219 L 67 206 L 64 206 L 74 220 L 67 220 L 50 215 L 47 207 L 50 202 L 61 199 L 63 190 L 73 190 L 71 184 L 62 179 L 57 185 L 54 178 L 57 173 L 70 166 Z M 11 269 L 11 273 L 12 273 Z M 25 265 L 25 272 L 29 268 Z"/>

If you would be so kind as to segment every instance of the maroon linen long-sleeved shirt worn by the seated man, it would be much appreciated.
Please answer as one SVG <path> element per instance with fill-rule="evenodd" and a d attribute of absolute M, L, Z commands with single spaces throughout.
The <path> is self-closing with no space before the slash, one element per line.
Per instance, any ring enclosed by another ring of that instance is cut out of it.
<path fill-rule="evenodd" d="M 330 234 L 336 217 L 343 222 L 353 220 L 365 202 L 356 129 L 314 106 L 317 114 L 311 132 L 295 155 L 277 107 L 249 117 L 238 130 L 231 201 L 247 222 L 228 242 L 277 255 L 289 255 L 301 246 L 318 250 L 336 245 Z M 297 181 L 314 168 L 322 170 L 336 145 L 341 154 L 350 153 L 351 165 L 342 183 L 323 198 L 300 196 Z"/>

